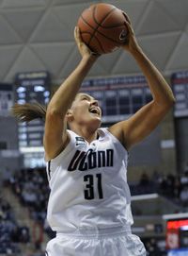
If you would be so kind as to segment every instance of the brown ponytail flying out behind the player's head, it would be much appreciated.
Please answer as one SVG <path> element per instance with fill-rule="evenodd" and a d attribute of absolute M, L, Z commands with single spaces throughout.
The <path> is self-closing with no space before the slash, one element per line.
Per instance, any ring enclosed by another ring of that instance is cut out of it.
<path fill-rule="evenodd" d="M 42 119 L 45 121 L 46 106 L 35 103 L 15 104 L 11 108 L 11 113 L 21 122 L 30 122 L 34 119 Z"/>

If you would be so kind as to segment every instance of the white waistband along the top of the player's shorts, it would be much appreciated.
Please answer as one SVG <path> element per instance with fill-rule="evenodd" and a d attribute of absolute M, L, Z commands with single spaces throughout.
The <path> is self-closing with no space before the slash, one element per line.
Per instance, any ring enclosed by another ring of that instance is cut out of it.
<path fill-rule="evenodd" d="M 86 238 L 99 238 L 104 236 L 118 236 L 121 234 L 132 233 L 131 226 L 120 226 L 113 228 L 96 228 L 92 230 L 77 229 L 72 231 L 56 231 L 56 236 L 72 236 L 72 237 L 86 237 Z"/>

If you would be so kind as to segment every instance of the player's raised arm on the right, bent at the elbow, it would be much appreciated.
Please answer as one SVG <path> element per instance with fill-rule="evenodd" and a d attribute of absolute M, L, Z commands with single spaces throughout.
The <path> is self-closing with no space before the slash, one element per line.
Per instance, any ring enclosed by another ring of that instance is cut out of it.
<path fill-rule="evenodd" d="M 162 74 L 145 55 L 136 42 L 131 21 L 127 15 L 126 26 L 129 30 L 128 43 L 123 48 L 136 60 L 146 77 L 153 100 L 133 114 L 126 121 L 119 122 L 109 130 L 129 149 L 142 141 L 163 120 L 164 115 L 175 102 L 174 95 Z"/>

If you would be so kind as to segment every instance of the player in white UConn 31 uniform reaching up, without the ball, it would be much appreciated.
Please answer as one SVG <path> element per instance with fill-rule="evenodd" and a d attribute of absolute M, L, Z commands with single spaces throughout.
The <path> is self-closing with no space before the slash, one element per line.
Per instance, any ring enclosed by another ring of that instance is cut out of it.
<path fill-rule="evenodd" d="M 82 60 L 55 92 L 46 113 L 38 105 L 13 108 L 23 121 L 45 115 L 44 148 L 51 188 L 47 218 L 56 231 L 46 255 L 146 255 L 142 242 L 131 231 L 128 150 L 157 127 L 175 99 L 164 77 L 136 42 L 127 20 L 129 36 L 123 48 L 136 60 L 153 97 L 130 119 L 100 128 L 102 110 L 98 101 L 78 94 L 98 56 L 82 42 L 77 27 L 74 36 Z"/>

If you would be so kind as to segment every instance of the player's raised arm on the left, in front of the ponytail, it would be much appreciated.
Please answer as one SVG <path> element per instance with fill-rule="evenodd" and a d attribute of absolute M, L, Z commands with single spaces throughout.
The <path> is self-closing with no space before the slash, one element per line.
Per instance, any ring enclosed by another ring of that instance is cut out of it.
<path fill-rule="evenodd" d="M 43 139 L 46 160 L 55 158 L 67 145 L 69 141 L 65 120 L 67 111 L 71 107 L 71 103 L 88 71 L 97 60 L 97 56 L 93 55 L 86 44 L 81 41 L 77 27 L 74 30 L 74 38 L 82 60 L 71 75 L 60 85 L 48 105 Z"/>

